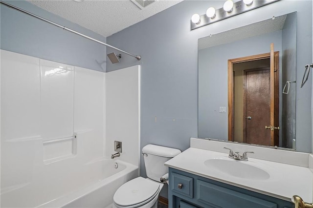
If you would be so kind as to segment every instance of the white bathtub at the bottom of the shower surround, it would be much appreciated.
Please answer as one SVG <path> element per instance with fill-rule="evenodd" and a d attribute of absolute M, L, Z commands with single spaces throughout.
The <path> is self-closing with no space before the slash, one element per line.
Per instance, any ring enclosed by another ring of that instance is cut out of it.
<path fill-rule="evenodd" d="M 109 208 L 117 188 L 138 176 L 138 166 L 115 159 L 101 158 L 72 169 L 2 188 L 1 207 Z"/>

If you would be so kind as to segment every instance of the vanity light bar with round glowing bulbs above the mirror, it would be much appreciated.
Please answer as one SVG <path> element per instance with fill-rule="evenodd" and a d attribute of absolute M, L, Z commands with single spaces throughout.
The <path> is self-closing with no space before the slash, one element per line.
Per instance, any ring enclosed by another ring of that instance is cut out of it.
<path fill-rule="evenodd" d="M 199 14 L 194 14 L 191 17 L 190 27 L 191 30 L 194 30 L 216 21 L 221 21 L 252 9 L 265 6 L 275 1 L 279 0 L 240 0 L 235 3 L 232 0 L 226 0 L 223 8 L 215 10 L 215 8 L 210 7 L 206 10 L 204 15 L 200 16 Z"/>

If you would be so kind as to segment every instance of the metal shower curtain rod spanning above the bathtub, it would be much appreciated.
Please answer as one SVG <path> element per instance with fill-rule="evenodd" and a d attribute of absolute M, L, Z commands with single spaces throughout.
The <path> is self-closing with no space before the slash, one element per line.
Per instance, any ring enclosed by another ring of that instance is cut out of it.
<path fill-rule="evenodd" d="M 34 18 L 37 18 L 37 19 L 39 19 L 39 20 L 42 20 L 42 21 L 48 22 L 49 24 L 52 24 L 52 25 L 54 25 L 54 26 L 60 27 L 60 28 L 62 28 L 62 29 L 64 29 L 64 30 L 67 30 L 67 31 L 69 31 L 69 32 L 71 32 L 71 33 L 74 33 L 74 34 L 76 34 L 76 35 L 79 35 L 79 36 L 82 36 L 82 37 L 84 37 L 84 38 L 87 38 L 87 39 L 89 39 L 89 40 L 91 40 L 91 41 L 94 41 L 94 42 L 100 43 L 100 44 L 102 44 L 102 45 L 108 46 L 108 47 L 110 47 L 110 48 L 113 48 L 113 49 L 115 49 L 115 50 L 117 50 L 117 51 L 119 51 L 119 52 L 122 52 L 122 53 L 125 53 L 125 54 L 129 55 L 129 56 L 132 56 L 132 57 L 136 58 L 137 60 L 140 60 L 140 59 L 141 59 L 141 56 L 139 56 L 139 55 L 134 55 L 134 54 L 128 53 L 128 52 L 123 51 L 123 50 L 121 50 L 121 49 L 119 49 L 119 48 L 116 48 L 116 47 L 114 47 L 114 46 L 112 46 L 112 45 L 109 45 L 109 44 L 107 44 L 107 43 L 105 43 L 105 42 L 101 42 L 101 41 L 98 41 L 98 40 L 96 40 L 96 39 L 93 39 L 93 38 L 91 38 L 91 37 L 89 37 L 89 36 L 87 36 L 87 35 L 84 35 L 84 34 L 82 34 L 82 33 L 77 32 L 77 31 L 75 31 L 75 30 L 69 29 L 69 28 L 67 28 L 67 27 L 65 27 L 65 26 L 62 26 L 62 25 L 58 24 L 58 23 L 55 23 L 55 22 L 53 22 L 53 21 L 49 21 L 49 20 L 47 20 L 47 19 L 45 19 L 45 18 L 42 18 L 42 17 L 40 17 L 40 16 L 37 16 L 37 15 L 35 15 L 35 14 L 33 14 L 33 13 L 30 13 L 30 12 L 27 12 L 27 11 L 25 11 L 25 10 L 23 10 L 23 9 L 20 9 L 19 7 L 16 7 L 16 6 L 13 6 L 13 5 L 11 5 L 11 4 L 8 4 L 8 3 L 6 3 L 6 2 L 4 2 L 4 1 L 2 1 L 2 0 L 0 0 L 0 3 L 1 3 L 1 4 L 4 4 L 5 6 L 7 6 L 7 7 L 9 7 L 9 8 L 18 10 L 18 11 L 24 13 L 24 14 L 30 15 L 30 16 L 32 16 L 32 17 L 34 17 Z"/>

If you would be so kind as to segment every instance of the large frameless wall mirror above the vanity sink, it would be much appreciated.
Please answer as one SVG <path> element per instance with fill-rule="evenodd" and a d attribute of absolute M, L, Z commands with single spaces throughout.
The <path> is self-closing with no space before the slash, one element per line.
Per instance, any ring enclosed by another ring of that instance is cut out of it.
<path fill-rule="evenodd" d="M 296 22 L 293 12 L 199 39 L 198 137 L 295 148 Z"/>

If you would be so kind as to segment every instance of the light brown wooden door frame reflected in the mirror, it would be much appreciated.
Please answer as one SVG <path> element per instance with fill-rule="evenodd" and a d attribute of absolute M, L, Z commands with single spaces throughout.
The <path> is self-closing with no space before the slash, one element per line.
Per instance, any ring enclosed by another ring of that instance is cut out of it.
<path fill-rule="evenodd" d="M 250 62 L 250 61 L 257 61 L 262 59 L 270 59 L 270 53 L 246 56 L 236 59 L 229 59 L 228 60 L 228 141 L 233 141 L 233 127 L 234 127 L 234 92 L 233 92 L 233 64 L 235 63 L 242 63 L 242 62 Z M 274 114 L 274 123 L 275 126 L 279 124 L 279 51 L 274 52 L 274 103 L 275 103 L 275 114 Z M 271 101 L 272 103 L 272 101 Z M 268 124 L 270 125 L 270 124 Z M 277 135 L 277 136 L 276 136 Z M 274 138 L 270 138 L 270 145 L 271 146 L 278 146 L 279 138 L 278 133 L 275 134 Z"/>

